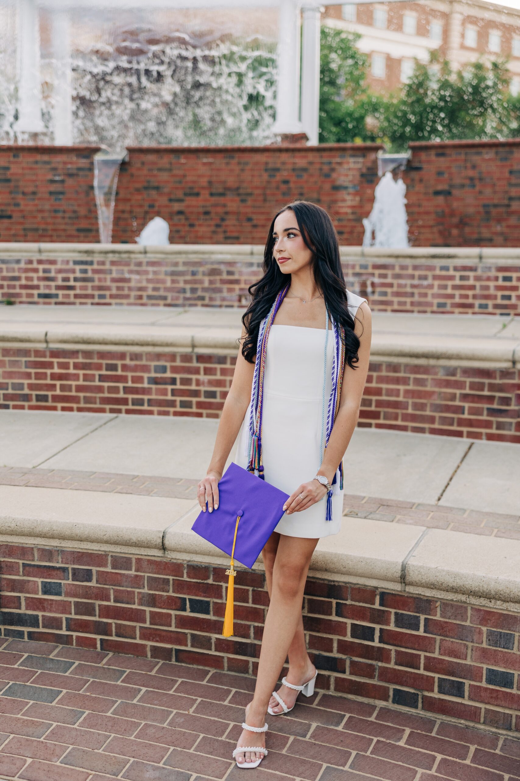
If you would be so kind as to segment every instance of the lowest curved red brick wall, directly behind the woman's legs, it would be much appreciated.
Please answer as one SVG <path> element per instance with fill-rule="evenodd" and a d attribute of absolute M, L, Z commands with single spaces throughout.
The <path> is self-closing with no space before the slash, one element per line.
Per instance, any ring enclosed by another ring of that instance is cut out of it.
<path fill-rule="evenodd" d="M 262 572 L 238 570 L 227 638 L 225 568 L 18 544 L 0 559 L 4 637 L 256 674 Z M 518 612 L 310 578 L 303 622 L 320 689 L 520 731 Z"/>

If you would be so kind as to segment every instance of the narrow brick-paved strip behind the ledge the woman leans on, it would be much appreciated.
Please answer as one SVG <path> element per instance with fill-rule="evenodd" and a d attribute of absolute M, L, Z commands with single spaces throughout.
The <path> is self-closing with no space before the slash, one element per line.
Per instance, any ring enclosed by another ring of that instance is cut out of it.
<path fill-rule="evenodd" d="M 179 477 L 0 466 L 0 484 L 12 486 L 194 499 L 196 483 L 196 480 Z M 345 494 L 343 507 L 345 515 L 356 515 L 360 518 L 520 540 L 520 515 L 425 505 L 416 501 L 399 501 L 357 494 Z"/>

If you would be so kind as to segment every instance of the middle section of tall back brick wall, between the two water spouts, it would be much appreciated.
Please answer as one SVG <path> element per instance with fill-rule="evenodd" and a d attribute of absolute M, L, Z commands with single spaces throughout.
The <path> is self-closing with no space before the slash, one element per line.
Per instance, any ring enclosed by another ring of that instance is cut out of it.
<path fill-rule="evenodd" d="M 302 198 L 331 212 L 342 244 L 361 244 L 379 144 L 129 148 L 119 173 L 113 241 L 159 215 L 172 244 L 264 244 L 274 214 Z"/>

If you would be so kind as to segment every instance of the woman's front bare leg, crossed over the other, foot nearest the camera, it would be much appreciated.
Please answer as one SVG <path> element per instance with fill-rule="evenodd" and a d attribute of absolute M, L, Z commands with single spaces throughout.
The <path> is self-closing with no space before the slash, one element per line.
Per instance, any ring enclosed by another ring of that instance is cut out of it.
<path fill-rule="evenodd" d="M 288 649 L 302 620 L 303 589 L 317 539 L 280 535 L 274 560 L 271 604 L 267 611 L 253 701 L 246 710 L 250 726 L 264 726 L 271 693 L 284 665 Z M 264 733 L 242 731 L 238 746 L 264 745 Z M 237 754 L 237 761 L 256 761 L 261 753 Z"/>

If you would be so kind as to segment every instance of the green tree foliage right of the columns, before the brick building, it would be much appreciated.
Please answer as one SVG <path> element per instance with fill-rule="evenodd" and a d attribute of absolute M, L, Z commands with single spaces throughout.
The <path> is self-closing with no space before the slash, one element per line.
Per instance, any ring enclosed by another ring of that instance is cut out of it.
<path fill-rule="evenodd" d="M 408 84 L 387 97 L 366 83 L 359 36 L 322 28 L 320 141 L 384 141 L 403 151 L 409 141 L 485 140 L 518 136 L 520 97 L 508 91 L 507 62 L 473 62 L 463 70 L 433 55 L 416 62 Z"/>

